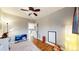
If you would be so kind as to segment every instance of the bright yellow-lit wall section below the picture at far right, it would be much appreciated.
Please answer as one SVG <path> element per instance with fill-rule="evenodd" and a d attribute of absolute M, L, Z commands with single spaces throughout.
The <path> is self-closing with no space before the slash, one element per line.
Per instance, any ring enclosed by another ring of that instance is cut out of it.
<path fill-rule="evenodd" d="M 65 26 L 65 50 L 79 51 L 79 35 L 72 33 L 72 22 L 66 22 Z"/>

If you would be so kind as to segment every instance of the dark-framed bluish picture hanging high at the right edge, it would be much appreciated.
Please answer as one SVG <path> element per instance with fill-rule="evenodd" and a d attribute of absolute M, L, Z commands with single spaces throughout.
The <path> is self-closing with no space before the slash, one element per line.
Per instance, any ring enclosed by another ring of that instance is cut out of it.
<path fill-rule="evenodd" d="M 74 8 L 72 33 L 79 34 L 79 7 Z"/>

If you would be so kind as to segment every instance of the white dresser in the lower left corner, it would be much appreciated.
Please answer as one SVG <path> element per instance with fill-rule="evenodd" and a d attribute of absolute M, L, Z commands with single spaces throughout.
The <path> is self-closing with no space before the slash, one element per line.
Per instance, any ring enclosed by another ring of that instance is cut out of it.
<path fill-rule="evenodd" d="M 0 39 L 0 51 L 9 51 L 10 38 Z"/>

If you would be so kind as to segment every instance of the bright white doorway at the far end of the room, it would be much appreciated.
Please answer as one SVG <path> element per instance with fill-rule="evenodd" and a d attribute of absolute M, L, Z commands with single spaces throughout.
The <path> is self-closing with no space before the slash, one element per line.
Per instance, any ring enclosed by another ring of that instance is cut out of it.
<path fill-rule="evenodd" d="M 34 38 L 37 38 L 37 24 L 28 23 L 28 39 L 32 41 Z"/>

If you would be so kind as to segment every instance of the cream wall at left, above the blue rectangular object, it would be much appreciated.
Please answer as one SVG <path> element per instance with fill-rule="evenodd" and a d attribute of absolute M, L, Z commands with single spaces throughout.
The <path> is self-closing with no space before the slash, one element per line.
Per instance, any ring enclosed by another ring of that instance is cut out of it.
<path fill-rule="evenodd" d="M 9 36 L 13 37 L 12 41 L 14 41 L 14 36 L 18 34 L 28 34 L 28 23 L 34 22 L 32 20 L 14 16 L 7 13 L 2 13 L 1 20 L 3 21 L 3 32 L 6 32 L 8 22 L 8 30 L 9 30 Z"/>

